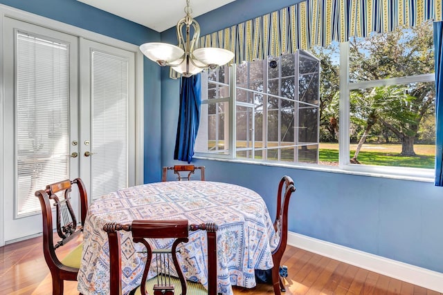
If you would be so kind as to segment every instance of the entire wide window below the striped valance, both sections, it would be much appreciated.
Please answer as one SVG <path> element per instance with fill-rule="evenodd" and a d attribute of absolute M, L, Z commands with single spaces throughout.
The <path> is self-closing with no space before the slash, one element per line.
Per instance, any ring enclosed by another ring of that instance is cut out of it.
<path fill-rule="evenodd" d="M 431 175 L 433 63 L 426 22 L 211 70 L 197 155 Z"/>

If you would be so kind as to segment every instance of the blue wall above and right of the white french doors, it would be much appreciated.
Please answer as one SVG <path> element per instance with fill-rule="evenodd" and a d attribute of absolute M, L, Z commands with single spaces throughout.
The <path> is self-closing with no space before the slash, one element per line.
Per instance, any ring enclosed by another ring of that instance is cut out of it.
<path fill-rule="evenodd" d="M 76 0 L 0 0 L 0 3 L 62 21 L 78 28 L 97 32 L 131 44 L 160 41 L 160 33 L 132 21 L 88 6 Z M 159 177 L 161 155 L 160 95 L 161 70 L 144 58 L 144 115 L 145 115 L 145 182 Z"/>

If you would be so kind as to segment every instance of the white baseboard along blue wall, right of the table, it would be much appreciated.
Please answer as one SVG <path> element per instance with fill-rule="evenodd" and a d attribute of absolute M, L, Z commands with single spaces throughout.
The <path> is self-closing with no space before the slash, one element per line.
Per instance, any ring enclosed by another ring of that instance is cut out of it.
<path fill-rule="evenodd" d="M 443 293 L 443 273 L 289 232 L 288 245 Z"/>

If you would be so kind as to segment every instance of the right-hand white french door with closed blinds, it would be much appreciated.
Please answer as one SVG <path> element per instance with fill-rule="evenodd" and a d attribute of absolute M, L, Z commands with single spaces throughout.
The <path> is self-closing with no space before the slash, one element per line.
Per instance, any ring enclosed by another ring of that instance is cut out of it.
<path fill-rule="evenodd" d="M 80 175 L 94 200 L 135 184 L 135 55 L 80 44 Z"/>

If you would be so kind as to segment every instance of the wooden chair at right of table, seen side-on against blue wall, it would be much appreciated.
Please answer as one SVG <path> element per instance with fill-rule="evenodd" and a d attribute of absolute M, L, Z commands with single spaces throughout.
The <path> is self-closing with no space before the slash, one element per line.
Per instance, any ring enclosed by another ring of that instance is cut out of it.
<path fill-rule="evenodd" d="M 272 251 L 274 266 L 271 272 L 272 285 L 275 295 L 281 294 L 280 289 L 283 292 L 286 291 L 282 278 L 280 278 L 280 261 L 282 260 L 283 253 L 287 245 L 289 199 L 294 191 L 296 191 L 296 188 L 293 186 L 292 178 L 289 176 L 283 176 L 278 184 L 277 214 L 275 215 L 274 221 L 275 233 L 280 237 L 277 247 Z"/>

